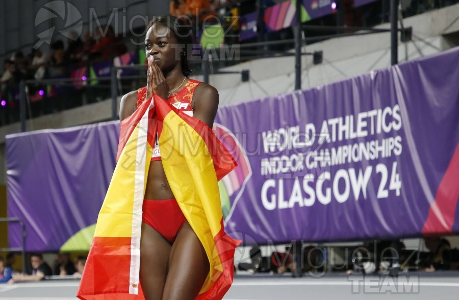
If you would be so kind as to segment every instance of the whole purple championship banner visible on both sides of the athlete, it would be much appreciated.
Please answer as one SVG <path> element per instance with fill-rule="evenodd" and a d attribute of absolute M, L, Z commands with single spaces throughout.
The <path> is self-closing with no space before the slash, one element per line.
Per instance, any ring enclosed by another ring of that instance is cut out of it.
<path fill-rule="evenodd" d="M 457 61 L 459 48 L 221 107 L 214 131 L 238 162 L 219 183 L 227 232 L 261 244 L 459 233 Z M 8 216 L 25 222 L 28 251 L 89 247 L 118 126 L 7 136 Z M 19 247 L 19 228 L 9 238 Z"/>

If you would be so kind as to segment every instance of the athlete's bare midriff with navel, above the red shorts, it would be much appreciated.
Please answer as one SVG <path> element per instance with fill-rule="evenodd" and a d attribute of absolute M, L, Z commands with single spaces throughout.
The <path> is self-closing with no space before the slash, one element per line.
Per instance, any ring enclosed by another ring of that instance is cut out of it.
<path fill-rule="evenodd" d="M 167 182 L 163 164 L 160 160 L 151 161 L 150 168 L 148 169 L 144 199 L 166 200 L 171 198 L 174 198 L 174 194 L 170 190 L 169 183 Z"/>

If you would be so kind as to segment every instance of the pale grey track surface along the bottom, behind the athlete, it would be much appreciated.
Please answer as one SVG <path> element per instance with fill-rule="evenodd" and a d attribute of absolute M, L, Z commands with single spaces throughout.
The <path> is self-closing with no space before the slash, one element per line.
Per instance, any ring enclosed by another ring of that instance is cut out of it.
<path fill-rule="evenodd" d="M 75 300 L 79 281 L 46 280 L 2 284 L 0 299 Z M 236 276 L 225 300 L 414 299 L 459 298 L 459 273 L 424 276 Z"/>

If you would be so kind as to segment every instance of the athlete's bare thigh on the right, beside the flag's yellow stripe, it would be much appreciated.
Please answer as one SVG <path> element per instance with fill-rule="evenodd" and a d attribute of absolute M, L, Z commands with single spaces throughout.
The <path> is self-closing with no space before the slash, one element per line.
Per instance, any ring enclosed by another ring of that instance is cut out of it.
<path fill-rule="evenodd" d="M 209 259 L 199 238 L 185 222 L 169 257 L 164 299 L 194 299 L 209 274 Z"/>

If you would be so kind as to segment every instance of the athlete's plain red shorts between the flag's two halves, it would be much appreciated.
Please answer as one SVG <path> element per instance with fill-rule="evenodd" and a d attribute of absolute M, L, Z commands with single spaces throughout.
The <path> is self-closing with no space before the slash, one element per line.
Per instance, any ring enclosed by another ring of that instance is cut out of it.
<path fill-rule="evenodd" d="M 175 199 L 143 200 L 142 221 L 158 231 L 169 243 L 175 241 L 177 233 L 186 221 Z"/>

